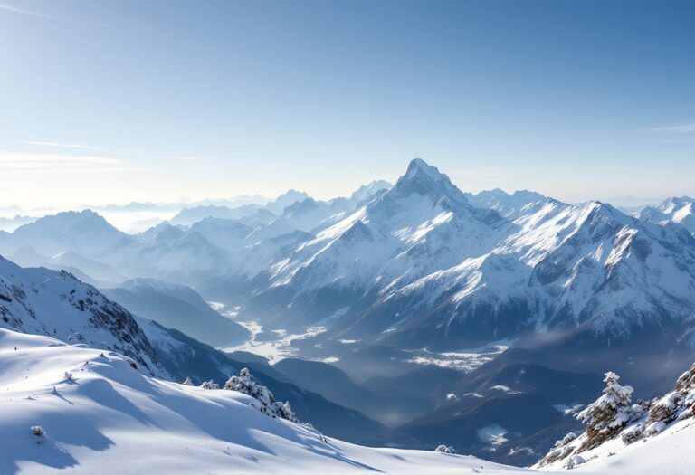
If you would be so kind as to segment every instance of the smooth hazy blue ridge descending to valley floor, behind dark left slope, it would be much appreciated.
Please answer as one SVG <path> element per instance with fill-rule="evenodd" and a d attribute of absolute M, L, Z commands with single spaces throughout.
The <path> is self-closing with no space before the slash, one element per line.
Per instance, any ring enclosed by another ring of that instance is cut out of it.
<path fill-rule="evenodd" d="M 211 309 L 195 290 L 182 285 L 134 279 L 101 291 L 139 317 L 176 328 L 213 347 L 233 346 L 249 337 L 246 328 Z"/>

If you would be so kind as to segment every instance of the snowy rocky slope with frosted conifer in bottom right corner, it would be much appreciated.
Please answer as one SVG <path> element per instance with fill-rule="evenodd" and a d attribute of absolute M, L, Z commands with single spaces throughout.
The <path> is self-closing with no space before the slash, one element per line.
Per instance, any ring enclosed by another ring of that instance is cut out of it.
<path fill-rule="evenodd" d="M 631 401 L 633 388 L 605 374 L 604 394 L 577 414 L 585 432 L 571 432 L 536 464 L 542 470 L 575 469 L 587 473 L 692 473 L 695 454 L 695 366 L 674 389 L 652 401 Z M 628 461 L 628 464 L 626 464 Z M 633 469 L 634 470 L 634 469 Z"/>

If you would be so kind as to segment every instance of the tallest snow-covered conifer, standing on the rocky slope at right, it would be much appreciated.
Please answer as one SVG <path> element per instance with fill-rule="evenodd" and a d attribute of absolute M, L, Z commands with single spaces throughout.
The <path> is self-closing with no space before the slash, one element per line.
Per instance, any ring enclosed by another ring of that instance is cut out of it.
<path fill-rule="evenodd" d="M 618 383 L 620 376 L 609 371 L 605 374 L 605 389 L 592 404 L 576 414 L 586 424 L 586 441 L 579 451 L 588 451 L 608 439 L 614 438 L 633 417 L 630 397 L 633 388 Z"/>

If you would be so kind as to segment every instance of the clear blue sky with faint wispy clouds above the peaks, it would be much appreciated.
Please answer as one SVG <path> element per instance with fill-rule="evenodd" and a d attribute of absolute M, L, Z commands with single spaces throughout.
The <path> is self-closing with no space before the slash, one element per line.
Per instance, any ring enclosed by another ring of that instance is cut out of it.
<path fill-rule="evenodd" d="M 695 195 L 695 2 L 0 0 L 2 205 Z M 617 201 L 617 200 L 616 200 Z"/>

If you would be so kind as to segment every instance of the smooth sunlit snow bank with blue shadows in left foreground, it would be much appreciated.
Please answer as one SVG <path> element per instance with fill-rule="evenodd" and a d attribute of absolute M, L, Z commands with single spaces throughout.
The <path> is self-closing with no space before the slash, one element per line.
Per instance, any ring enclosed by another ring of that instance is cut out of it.
<path fill-rule="evenodd" d="M 326 439 L 259 412 L 248 395 L 161 381 L 134 366 L 117 353 L 0 329 L 0 473 L 528 471 Z"/>

